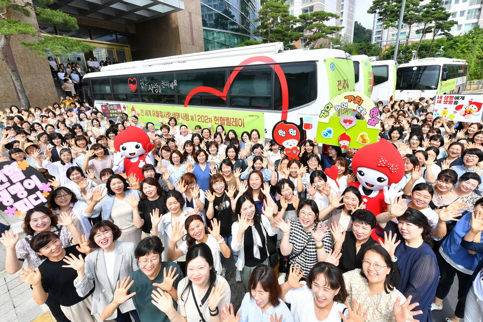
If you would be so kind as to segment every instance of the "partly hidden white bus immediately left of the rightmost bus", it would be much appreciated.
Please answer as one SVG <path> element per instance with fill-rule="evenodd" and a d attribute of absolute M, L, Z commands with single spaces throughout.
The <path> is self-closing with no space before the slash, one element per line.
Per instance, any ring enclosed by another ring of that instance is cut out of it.
<path fill-rule="evenodd" d="M 389 104 L 394 99 L 394 89 L 396 87 L 396 65 L 393 60 L 378 60 L 371 62 L 372 75 L 374 76 L 374 86 L 370 99 L 382 101 L 384 105 Z"/>

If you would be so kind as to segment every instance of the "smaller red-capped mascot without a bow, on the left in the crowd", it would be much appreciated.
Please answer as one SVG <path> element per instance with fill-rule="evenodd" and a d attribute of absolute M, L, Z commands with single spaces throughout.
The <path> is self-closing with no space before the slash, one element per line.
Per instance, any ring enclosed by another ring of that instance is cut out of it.
<path fill-rule="evenodd" d="M 129 126 L 121 131 L 114 139 L 116 151 L 114 171 L 124 171 L 127 176 L 134 174 L 138 181 L 144 180 L 142 167 L 154 164 L 151 150 L 154 144 L 149 136 L 142 129 L 136 126 Z"/>

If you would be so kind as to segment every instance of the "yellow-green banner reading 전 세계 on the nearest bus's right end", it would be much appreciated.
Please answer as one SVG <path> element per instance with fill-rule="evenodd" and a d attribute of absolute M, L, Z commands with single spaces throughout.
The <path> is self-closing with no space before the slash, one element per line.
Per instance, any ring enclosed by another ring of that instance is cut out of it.
<path fill-rule="evenodd" d="M 354 63 L 349 59 L 328 58 L 324 61 L 329 81 L 329 100 L 339 94 L 354 91 Z"/>

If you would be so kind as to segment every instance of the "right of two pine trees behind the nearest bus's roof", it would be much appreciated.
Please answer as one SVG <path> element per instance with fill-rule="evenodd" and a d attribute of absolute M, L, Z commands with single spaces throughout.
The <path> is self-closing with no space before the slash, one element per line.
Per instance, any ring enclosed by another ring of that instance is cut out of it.
<path fill-rule="evenodd" d="M 298 22 L 304 31 L 311 31 L 312 34 L 307 37 L 306 46 L 312 44 L 312 48 L 321 38 L 328 38 L 330 35 L 342 30 L 344 27 L 328 26 L 324 22 L 332 18 L 339 18 L 339 15 L 325 11 L 314 11 L 312 13 L 302 13 L 299 15 Z"/>

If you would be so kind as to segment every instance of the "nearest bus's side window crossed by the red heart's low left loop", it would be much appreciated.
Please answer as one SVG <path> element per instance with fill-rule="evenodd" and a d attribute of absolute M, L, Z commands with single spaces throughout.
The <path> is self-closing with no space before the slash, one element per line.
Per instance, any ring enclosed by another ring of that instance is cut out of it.
<path fill-rule="evenodd" d="M 226 70 L 177 73 L 176 81 L 178 84 L 178 104 L 184 105 L 188 94 L 198 87 L 206 86 L 223 92 L 226 83 Z M 226 106 L 226 101 L 213 94 L 200 92 L 190 99 L 188 105 L 220 107 Z"/>

